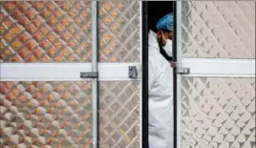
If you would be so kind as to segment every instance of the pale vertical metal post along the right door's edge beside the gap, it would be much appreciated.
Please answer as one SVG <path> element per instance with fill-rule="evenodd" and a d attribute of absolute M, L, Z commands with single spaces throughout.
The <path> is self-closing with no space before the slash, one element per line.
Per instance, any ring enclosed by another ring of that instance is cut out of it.
<path fill-rule="evenodd" d="M 182 52 L 181 52 L 181 40 L 182 40 L 182 24 L 181 24 L 181 9 L 182 9 L 182 1 L 176 2 L 176 43 L 177 43 L 177 58 L 176 61 L 178 62 L 179 66 L 181 64 Z M 177 82 L 176 82 L 176 105 L 177 105 L 177 148 L 181 148 L 181 74 L 177 74 Z"/>

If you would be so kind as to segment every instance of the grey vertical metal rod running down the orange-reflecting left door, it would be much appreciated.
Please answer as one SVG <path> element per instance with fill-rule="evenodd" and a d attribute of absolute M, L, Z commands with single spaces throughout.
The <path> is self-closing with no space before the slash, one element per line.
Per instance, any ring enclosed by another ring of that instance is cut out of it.
<path fill-rule="evenodd" d="M 92 1 L 92 72 L 97 73 L 97 1 Z M 97 78 L 93 78 L 93 148 L 98 147 Z"/>

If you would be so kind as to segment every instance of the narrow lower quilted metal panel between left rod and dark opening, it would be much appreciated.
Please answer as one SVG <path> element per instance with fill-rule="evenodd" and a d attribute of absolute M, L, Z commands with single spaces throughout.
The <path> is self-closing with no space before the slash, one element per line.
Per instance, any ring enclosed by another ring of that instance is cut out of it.
<path fill-rule="evenodd" d="M 139 147 L 139 82 L 99 83 L 99 130 L 102 148 Z"/>

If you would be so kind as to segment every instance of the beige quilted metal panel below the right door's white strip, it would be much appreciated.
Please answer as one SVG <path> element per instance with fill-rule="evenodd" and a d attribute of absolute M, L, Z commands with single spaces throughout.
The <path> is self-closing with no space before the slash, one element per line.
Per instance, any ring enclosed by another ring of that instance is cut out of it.
<path fill-rule="evenodd" d="M 254 78 L 182 78 L 182 148 L 255 148 Z"/>

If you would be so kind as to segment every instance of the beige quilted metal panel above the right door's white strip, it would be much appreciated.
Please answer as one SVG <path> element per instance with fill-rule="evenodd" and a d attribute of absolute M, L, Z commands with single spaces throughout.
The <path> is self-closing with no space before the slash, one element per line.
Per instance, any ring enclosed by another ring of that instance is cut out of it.
<path fill-rule="evenodd" d="M 185 57 L 255 58 L 255 1 L 183 1 Z"/>

